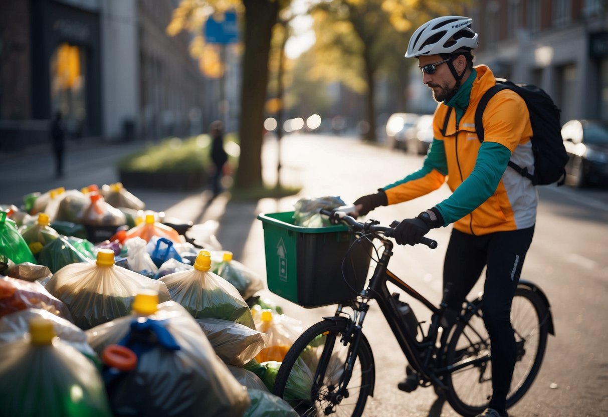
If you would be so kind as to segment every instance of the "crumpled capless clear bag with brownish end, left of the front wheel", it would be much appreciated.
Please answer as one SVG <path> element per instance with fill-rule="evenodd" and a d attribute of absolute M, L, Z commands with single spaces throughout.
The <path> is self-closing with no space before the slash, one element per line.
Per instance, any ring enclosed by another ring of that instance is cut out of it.
<path fill-rule="evenodd" d="M 196 319 L 213 350 L 226 364 L 241 367 L 266 345 L 268 334 L 222 319 Z"/>

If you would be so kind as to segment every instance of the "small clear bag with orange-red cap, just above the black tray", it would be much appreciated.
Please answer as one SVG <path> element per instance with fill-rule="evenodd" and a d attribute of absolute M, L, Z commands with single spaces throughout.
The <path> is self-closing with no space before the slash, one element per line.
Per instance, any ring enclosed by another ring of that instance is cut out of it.
<path fill-rule="evenodd" d="M 89 197 L 90 204 L 83 212 L 80 222 L 86 226 L 88 240 L 99 243 L 116 233 L 116 229 L 126 224 L 125 215 L 107 202 L 102 195 L 94 192 Z"/>

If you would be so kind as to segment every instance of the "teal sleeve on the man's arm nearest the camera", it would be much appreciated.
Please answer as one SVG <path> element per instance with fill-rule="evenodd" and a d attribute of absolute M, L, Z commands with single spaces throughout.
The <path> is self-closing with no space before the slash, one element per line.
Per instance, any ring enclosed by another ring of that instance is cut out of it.
<path fill-rule="evenodd" d="M 482 143 L 471 174 L 451 196 L 435 206 L 443 217 L 443 226 L 468 215 L 494 194 L 510 157 L 511 151 L 506 146 Z"/>

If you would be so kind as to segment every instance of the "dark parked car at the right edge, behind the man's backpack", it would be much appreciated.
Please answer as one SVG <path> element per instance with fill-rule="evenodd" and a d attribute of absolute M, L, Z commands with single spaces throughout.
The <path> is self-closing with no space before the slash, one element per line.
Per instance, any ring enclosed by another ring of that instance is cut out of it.
<path fill-rule="evenodd" d="M 566 184 L 584 187 L 608 183 L 608 123 L 600 120 L 569 120 L 562 126 L 568 153 Z"/>

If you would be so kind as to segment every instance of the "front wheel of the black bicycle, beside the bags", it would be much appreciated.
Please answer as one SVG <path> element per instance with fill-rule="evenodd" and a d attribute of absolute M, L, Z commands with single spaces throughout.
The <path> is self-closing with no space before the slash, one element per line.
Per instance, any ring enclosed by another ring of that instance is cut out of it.
<path fill-rule="evenodd" d="M 373 389 L 374 363 L 363 334 L 354 351 L 348 323 L 343 319 L 316 323 L 286 354 L 273 393 L 288 401 L 301 416 L 363 413 Z M 353 363 L 350 371 L 348 362 Z"/>

